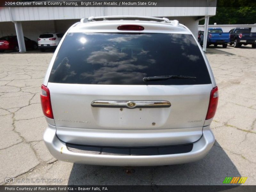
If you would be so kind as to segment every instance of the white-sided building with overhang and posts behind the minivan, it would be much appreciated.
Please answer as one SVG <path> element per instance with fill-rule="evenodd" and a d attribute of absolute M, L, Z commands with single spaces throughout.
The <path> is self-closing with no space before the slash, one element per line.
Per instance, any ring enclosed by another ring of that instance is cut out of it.
<path fill-rule="evenodd" d="M 209 6 L 193 6 L 198 3 Z M 0 9 L 0 36 L 17 35 L 22 52 L 25 45 L 19 36 L 24 35 L 37 41 L 38 36 L 45 32 L 66 32 L 81 18 L 111 15 L 166 17 L 170 20 L 179 20 L 197 36 L 198 21 L 206 16 L 215 15 L 216 3 L 216 0 L 184 0 L 182 7 L 4 7 Z M 190 7 L 185 7 L 186 5 Z"/>

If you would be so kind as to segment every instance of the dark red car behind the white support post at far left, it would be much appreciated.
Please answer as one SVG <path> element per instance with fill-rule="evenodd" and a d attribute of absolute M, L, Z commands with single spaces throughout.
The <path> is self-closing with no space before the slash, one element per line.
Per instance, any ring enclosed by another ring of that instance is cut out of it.
<path fill-rule="evenodd" d="M 37 43 L 33 40 L 24 37 L 26 49 L 37 49 Z M 4 36 L 0 38 L 0 52 L 5 50 L 13 50 L 19 52 L 17 36 Z"/>

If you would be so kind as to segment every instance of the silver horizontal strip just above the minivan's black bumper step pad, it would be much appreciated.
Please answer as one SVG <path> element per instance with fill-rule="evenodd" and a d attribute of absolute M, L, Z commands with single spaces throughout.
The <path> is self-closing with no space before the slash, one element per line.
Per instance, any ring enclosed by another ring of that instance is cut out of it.
<path fill-rule="evenodd" d="M 202 136 L 202 127 L 155 130 L 102 130 L 58 127 L 62 141 L 80 145 L 144 147 L 193 143 Z"/>

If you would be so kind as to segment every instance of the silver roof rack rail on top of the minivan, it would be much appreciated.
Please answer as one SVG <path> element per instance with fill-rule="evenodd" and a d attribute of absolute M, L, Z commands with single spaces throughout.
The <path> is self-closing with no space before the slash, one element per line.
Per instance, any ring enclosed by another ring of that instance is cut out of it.
<path fill-rule="evenodd" d="M 81 19 L 81 23 L 86 23 L 88 21 L 97 21 L 97 20 L 124 20 L 124 19 L 131 19 L 131 20 L 155 20 L 158 22 L 166 22 L 166 23 L 171 23 L 174 26 L 179 25 L 178 20 L 169 20 L 165 17 L 159 18 L 159 17 L 144 17 L 144 16 L 125 16 L 125 15 L 117 15 L 117 16 L 102 16 L 102 17 L 89 17 L 88 19 L 83 18 Z"/>

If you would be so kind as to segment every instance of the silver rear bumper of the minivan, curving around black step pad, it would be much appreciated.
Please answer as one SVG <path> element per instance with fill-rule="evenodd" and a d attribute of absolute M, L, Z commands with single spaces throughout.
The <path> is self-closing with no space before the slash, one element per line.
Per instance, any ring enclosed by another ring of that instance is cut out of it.
<path fill-rule="evenodd" d="M 44 132 L 45 145 L 55 158 L 73 163 L 110 166 L 155 166 L 193 162 L 202 159 L 212 148 L 214 141 L 214 135 L 207 126 L 202 137 L 193 143 L 193 148 L 188 153 L 151 156 L 98 155 L 68 150 L 66 143 L 56 136 L 54 126 L 49 125 Z"/>

